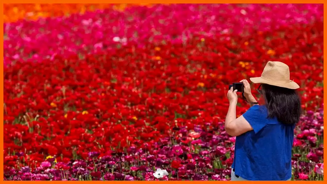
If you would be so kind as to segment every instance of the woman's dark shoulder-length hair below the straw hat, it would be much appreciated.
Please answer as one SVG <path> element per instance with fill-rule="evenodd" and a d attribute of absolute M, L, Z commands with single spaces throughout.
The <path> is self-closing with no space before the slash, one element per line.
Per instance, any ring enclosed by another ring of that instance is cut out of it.
<path fill-rule="evenodd" d="M 296 90 L 262 84 L 263 96 L 266 101 L 268 118 L 286 125 L 299 122 L 301 116 L 301 99 Z"/>

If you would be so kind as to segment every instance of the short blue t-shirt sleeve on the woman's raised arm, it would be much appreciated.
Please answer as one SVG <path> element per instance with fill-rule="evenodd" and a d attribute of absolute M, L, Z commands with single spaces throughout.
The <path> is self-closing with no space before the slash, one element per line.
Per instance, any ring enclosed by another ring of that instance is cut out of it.
<path fill-rule="evenodd" d="M 258 133 L 267 124 L 267 111 L 260 105 L 253 105 L 243 114 L 243 117 L 250 123 L 254 133 Z"/>

